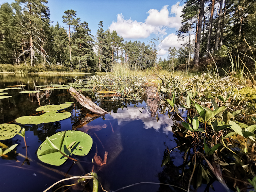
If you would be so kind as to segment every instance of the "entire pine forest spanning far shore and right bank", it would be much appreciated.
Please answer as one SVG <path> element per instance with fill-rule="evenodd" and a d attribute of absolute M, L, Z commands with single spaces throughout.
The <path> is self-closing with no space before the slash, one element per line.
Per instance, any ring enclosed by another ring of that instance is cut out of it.
<path fill-rule="evenodd" d="M 53 26 L 47 3 L 17 0 L 1 4 L 1 64 L 64 71 L 112 71 L 114 64 L 126 64 L 131 70 L 169 71 L 182 64 L 210 66 L 212 59 L 230 66 L 230 56 L 251 57 L 255 52 L 255 0 L 185 1 L 176 34 L 186 43 L 178 50 L 170 47 L 168 58 L 163 60 L 157 55 L 159 37 L 152 37 L 148 44 L 127 42 L 115 30 L 104 31 L 103 21 L 93 36 L 88 23 L 74 10 L 63 13 L 66 26 Z"/>

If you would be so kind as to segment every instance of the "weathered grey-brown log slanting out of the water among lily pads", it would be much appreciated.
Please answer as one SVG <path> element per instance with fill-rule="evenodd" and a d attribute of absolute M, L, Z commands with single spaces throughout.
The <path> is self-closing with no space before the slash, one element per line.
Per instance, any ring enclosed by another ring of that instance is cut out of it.
<path fill-rule="evenodd" d="M 98 105 L 96 105 L 94 102 L 92 102 L 90 99 L 84 97 L 84 95 L 78 93 L 73 87 L 69 88 L 69 93 L 76 98 L 76 100 L 85 108 L 89 109 L 92 113 L 104 115 L 108 113 L 104 109 L 100 108 Z"/>

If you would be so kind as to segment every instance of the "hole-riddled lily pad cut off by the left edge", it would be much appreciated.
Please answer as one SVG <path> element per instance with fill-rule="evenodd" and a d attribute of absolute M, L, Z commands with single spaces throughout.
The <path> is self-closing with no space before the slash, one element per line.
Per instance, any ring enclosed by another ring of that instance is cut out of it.
<path fill-rule="evenodd" d="M 0 124 L 0 140 L 6 140 L 13 138 L 18 132 L 20 132 L 20 125 L 16 124 Z"/>

